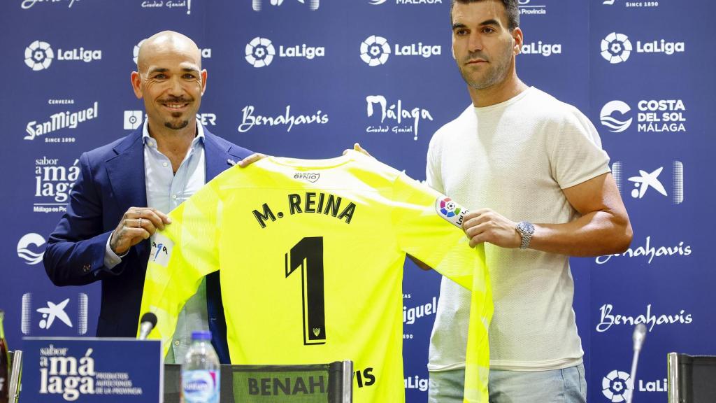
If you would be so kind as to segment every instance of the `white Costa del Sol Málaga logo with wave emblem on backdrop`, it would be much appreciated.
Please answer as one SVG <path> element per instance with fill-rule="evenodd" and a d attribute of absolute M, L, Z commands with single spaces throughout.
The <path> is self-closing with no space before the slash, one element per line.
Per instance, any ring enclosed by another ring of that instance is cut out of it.
<path fill-rule="evenodd" d="M 682 99 L 639 100 L 636 111 L 622 100 L 611 100 L 599 112 L 599 120 L 612 133 L 632 127 L 636 118 L 638 133 L 679 133 L 686 131 L 687 108 Z"/>

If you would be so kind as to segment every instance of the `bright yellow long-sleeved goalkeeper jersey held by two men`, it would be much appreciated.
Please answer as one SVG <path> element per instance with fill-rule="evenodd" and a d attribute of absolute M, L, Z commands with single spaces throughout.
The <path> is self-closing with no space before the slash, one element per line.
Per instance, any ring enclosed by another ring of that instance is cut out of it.
<path fill-rule="evenodd" d="M 460 229 L 465 212 L 354 151 L 228 169 L 152 238 L 141 310 L 158 316 L 150 338 L 161 338 L 166 354 L 185 301 L 221 270 L 233 364 L 350 359 L 354 402 L 405 402 L 402 269 L 410 254 L 473 291 L 465 402 L 486 403 L 493 303 L 482 245 L 470 248 Z"/>

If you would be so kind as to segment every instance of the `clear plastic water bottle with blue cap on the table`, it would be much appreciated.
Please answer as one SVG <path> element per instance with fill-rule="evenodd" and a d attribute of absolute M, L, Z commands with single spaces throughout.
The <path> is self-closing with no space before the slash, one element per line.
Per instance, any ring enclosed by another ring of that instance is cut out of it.
<path fill-rule="evenodd" d="M 192 332 L 191 340 L 181 366 L 184 402 L 218 403 L 221 367 L 211 346 L 211 332 Z"/>

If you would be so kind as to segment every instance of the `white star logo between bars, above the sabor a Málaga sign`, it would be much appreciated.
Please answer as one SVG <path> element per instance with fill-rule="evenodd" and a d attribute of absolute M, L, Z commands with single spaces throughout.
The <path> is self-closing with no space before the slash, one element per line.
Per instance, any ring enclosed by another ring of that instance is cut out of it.
<path fill-rule="evenodd" d="M 24 293 L 22 295 L 21 331 L 23 334 L 29 335 L 33 333 L 33 329 L 37 331 L 35 326 L 39 327 L 39 331 L 41 332 L 51 329 L 57 332 L 72 329 L 76 326 L 77 334 L 83 335 L 87 333 L 87 294 L 79 293 L 77 294 L 77 300 L 65 298 L 58 303 L 52 300 L 45 300 L 46 305 L 40 308 L 33 306 L 32 300 L 32 293 Z M 73 308 L 74 304 L 77 304 L 77 323 L 72 323 L 72 319 L 67 313 L 69 311 L 68 305 L 70 302 L 72 302 Z M 39 321 L 37 313 L 42 314 L 39 317 Z M 63 323 L 64 326 L 60 325 L 58 328 L 58 323 Z"/>

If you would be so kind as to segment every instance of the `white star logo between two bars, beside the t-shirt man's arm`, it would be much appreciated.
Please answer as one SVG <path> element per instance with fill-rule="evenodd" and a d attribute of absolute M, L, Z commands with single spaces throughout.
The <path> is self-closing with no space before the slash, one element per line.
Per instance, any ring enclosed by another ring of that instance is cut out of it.
<path fill-rule="evenodd" d="M 631 199 L 654 200 L 671 199 L 673 204 L 682 204 L 684 201 L 684 163 L 674 160 L 670 166 L 627 166 L 622 161 L 615 161 L 611 164 L 611 172 L 614 175 L 616 187 L 619 193 Z M 668 167 L 664 172 L 664 168 Z M 630 182 L 629 189 L 627 183 Z"/>

